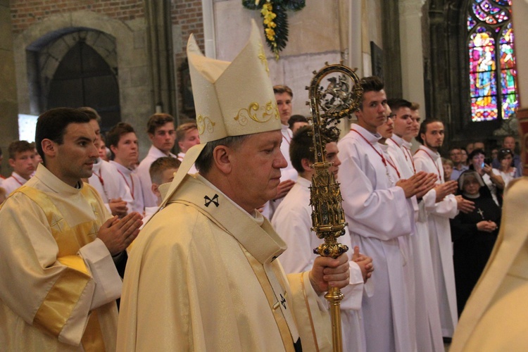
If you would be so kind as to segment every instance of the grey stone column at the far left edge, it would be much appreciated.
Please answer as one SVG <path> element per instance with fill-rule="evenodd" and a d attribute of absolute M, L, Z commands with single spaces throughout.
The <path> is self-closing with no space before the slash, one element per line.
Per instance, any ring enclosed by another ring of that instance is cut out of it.
<path fill-rule="evenodd" d="M 11 173 L 7 147 L 18 139 L 18 103 L 9 0 L 0 0 L 0 123 L 0 146 L 4 153 L 1 173 L 7 176 Z"/>

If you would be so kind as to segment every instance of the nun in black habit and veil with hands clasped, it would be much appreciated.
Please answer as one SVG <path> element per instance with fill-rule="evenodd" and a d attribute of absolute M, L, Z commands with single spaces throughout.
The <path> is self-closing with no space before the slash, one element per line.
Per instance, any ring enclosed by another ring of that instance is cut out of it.
<path fill-rule="evenodd" d="M 501 225 L 501 209 L 474 170 L 458 178 L 458 193 L 474 202 L 471 213 L 460 212 L 451 220 L 458 315 L 484 270 Z"/>

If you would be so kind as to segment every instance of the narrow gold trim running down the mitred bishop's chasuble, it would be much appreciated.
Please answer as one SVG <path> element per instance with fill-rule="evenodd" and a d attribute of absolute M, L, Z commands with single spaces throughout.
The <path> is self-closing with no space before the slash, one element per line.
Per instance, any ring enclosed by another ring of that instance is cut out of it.
<path fill-rule="evenodd" d="M 227 203 L 227 199 L 225 199 L 225 201 Z M 196 204 L 192 203 L 191 201 L 178 199 L 176 201 L 169 200 L 168 203 L 181 203 L 181 204 L 184 204 L 186 206 L 191 206 L 191 207 L 195 208 L 200 213 L 205 215 L 209 220 L 211 220 L 216 225 L 218 225 L 218 227 L 220 227 L 220 229 L 222 229 L 223 231 L 225 231 L 228 234 L 231 234 L 231 236 L 233 236 L 233 234 L 231 232 L 229 232 L 220 222 L 218 222 L 218 220 L 213 218 L 212 215 L 210 215 L 205 210 L 203 210 L 202 208 L 200 208 Z M 222 206 L 225 206 L 225 204 L 222 204 Z M 262 227 L 259 227 L 258 225 L 255 225 L 255 226 L 258 227 L 259 230 L 265 231 L 265 229 L 263 229 Z M 234 237 L 234 238 L 236 239 L 236 237 Z M 273 318 L 275 318 L 275 323 L 277 324 L 277 327 L 278 327 L 279 332 L 280 332 L 280 336 L 282 337 L 282 343 L 284 344 L 284 350 L 288 351 L 288 352 L 289 351 L 295 351 L 295 349 L 294 349 L 294 342 L 295 341 L 293 341 L 293 339 L 291 338 L 291 332 L 289 330 L 287 321 L 284 318 L 284 315 L 282 314 L 282 311 L 280 310 L 280 308 L 279 308 L 279 306 L 277 304 L 277 303 L 280 303 L 280 302 L 277 302 L 277 299 L 275 298 L 275 293 L 274 293 L 274 291 L 272 289 L 272 285 L 270 284 L 270 280 L 268 279 L 268 275 L 266 275 L 266 273 L 265 273 L 263 265 L 255 257 L 253 257 L 251 255 L 251 253 L 249 253 L 249 251 L 247 251 L 244 248 L 244 246 L 242 246 L 240 243 L 239 243 L 239 246 L 242 249 L 242 251 L 244 252 L 244 255 L 246 256 L 249 264 L 251 265 L 251 269 L 253 269 L 253 272 L 255 273 L 255 275 L 256 275 L 256 277 L 258 279 L 258 282 L 260 283 L 260 287 L 262 287 L 263 292 L 264 292 L 264 294 L 265 294 L 265 296 L 266 296 L 266 298 L 268 300 L 268 305 L 270 306 L 270 310 L 273 313 Z M 277 267 L 277 265 L 272 265 L 272 267 L 273 267 L 272 270 L 273 270 L 275 276 L 277 278 L 282 277 L 282 273 L 280 272 L 280 269 Z M 277 279 L 277 281 L 279 282 L 279 285 L 280 285 L 282 291 L 285 292 L 286 291 L 286 287 L 284 286 L 284 282 L 281 279 Z M 286 299 L 288 301 L 288 306 L 290 307 L 290 309 L 293 308 L 293 304 L 291 304 L 291 302 L 289 302 L 289 298 L 286 297 Z"/>

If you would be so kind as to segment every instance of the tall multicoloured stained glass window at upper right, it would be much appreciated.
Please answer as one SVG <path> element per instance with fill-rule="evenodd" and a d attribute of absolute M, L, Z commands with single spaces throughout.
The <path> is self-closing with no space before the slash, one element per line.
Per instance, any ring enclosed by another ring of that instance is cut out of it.
<path fill-rule="evenodd" d="M 472 121 L 507 120 L 519 106 L 512 0 L 473 0 L 467 9 Z"/>

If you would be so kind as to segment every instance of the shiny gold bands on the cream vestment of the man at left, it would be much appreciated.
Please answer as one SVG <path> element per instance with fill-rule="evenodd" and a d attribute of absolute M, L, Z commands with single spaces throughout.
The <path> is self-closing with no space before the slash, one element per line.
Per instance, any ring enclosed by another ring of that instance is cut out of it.
<path fill-rule="evenodd" d="M 70 227 L 53 201 L 43 191 L 23 186 L 16 192 L 25 194 L 42 208 L 48 220 L 51 234 L 57 242 L 57 261 L 66 267 L 49 290 L 33 319 L 33 325 L 38 325 L 58 337 L 73 309 L 77 306 L 77 301 L 84 288 L 92 279 L 84 260 L 77 256 L 77 252 L 82 246 L 94 241 L 101 223 L 95 220 Z M 99 219 L 96 210 L 98 202 L 93 190 L 85 184 L 80 190 L 80 194 L 87 199 L 92 206 L 96 219 Z M 92 310 L 89 316 L 81 343 L 85 351 L 105 351 L 103 334 L 96 310 Z"/>

